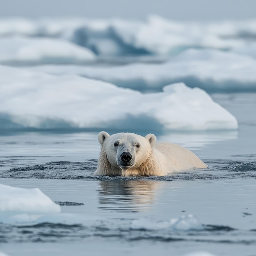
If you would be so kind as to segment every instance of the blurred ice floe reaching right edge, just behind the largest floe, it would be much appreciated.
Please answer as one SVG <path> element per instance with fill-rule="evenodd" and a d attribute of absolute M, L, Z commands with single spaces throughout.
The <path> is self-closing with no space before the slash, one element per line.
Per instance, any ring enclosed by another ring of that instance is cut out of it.
<path fill-rule="evenodd" d="M 210 93 L 256 91 L 254 58 L 213 49 L 189 49 L 162 64 L 115 67 L 43 65 L 30 69 L 50 74 L 78 74 L 142 92 L 162 91 L 163 86 L 177 82 Z"/>

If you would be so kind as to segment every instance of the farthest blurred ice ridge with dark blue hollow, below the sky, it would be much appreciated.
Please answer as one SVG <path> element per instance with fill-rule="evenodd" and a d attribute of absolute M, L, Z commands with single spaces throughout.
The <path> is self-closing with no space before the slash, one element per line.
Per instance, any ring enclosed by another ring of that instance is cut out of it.
<path fill-rule="evenodd" d="M 83 18 L 0 19 L 0 36 L 42 36 L 70 40 L 98 55 L 176 55 L 189 48 L 215 48 L 256 56 L 256 20 L 177 22 Z"/>

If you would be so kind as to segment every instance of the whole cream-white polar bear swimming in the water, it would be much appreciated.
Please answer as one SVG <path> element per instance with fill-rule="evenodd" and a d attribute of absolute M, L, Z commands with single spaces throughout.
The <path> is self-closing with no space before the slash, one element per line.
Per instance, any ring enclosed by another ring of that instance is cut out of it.
<path fill-rule="evenodd" d="M 194 153 L 179 145 L 156 143 L 156 137 L 121 132 L 109 135 L 100 132 L 101 144 L 98 168 L 94 175 L 156 175 L 174 171 L 207 168 Z"/>

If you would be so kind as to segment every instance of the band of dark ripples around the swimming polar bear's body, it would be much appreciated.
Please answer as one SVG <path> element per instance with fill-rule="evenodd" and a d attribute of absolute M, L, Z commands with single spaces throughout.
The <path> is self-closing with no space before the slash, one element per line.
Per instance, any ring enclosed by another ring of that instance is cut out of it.
<path fill-rule="evenodd" d="M 16 162 L 16 159 L 12 159 Z M 195 169 L 180 173 L 172 173 L 168 176 L 94 176 L 98 159 L 90 159 L 86 162 L 49 162 L 46 164 L 20 166 L 2 171 L 0 177 L 38 178 L 38 179 L 67 179 L 67 180 L 215 180 L 237 177 L 256 177 L 256 162 L 231 162 L 229 160 L 210 160 L 206 163 L 207 169 Z M 11 164 L 10 160 L 8 164 Z"/>

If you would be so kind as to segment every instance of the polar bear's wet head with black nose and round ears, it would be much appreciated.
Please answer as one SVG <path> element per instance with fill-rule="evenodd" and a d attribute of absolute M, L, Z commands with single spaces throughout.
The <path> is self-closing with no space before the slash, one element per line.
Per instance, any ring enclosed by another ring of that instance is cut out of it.
<path fill-rule="evenodd" d="M 111 169 L 117 174 L 119 170 L 124 175 L 128 169 L 137 169 L 146 162 L 152 154 L 156 137 L 153 134 L 142 137 L 135 133 L 109 135 L 108 132 L 100 132 L 98 140 L 101 144 L 98 168 L 106 174 Z"/>

